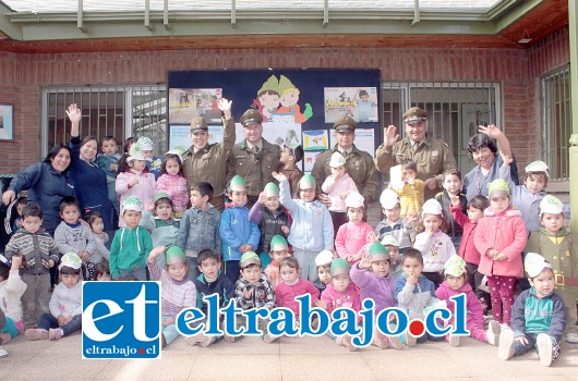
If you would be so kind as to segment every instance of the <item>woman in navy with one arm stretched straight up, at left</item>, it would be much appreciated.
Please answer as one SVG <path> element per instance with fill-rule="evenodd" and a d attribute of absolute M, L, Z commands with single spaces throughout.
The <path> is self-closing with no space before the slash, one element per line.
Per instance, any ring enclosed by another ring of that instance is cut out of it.
<path fill-rule="evenodd" d="M 116 229 L 115 208 L 108 199 L 106 173 L 95 162 L 98 143 L 94 136 L 85 136 L 81 142 L 79 125 L 82 114 L 76 105 L 69 106 L 67 115 L 72 124 L 70 148 L 73 159 L 70 173 L 76 186 L 82 217 L 87 218 L 94 211 L 100 212 L 105 231 L 110 232 Z"/>

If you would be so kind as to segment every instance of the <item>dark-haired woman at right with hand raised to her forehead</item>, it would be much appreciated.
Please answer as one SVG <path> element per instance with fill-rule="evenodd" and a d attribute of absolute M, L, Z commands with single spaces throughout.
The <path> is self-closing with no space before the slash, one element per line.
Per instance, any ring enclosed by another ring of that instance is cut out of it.
<path fill-rule="evenodd" d="M 479 131 L 480 133 L 473 135 L 468 144 L 468 151 L 478 164 L 463 176 L 463 193 L 468 201 L 477 195 L 487 197 L 487 185 L 499 177 L 498 172 L 503 161 L 499 155 L 496 156 L 498 149 L 504 156 L 514 159 L 510 174 L 511 180 L 518 184 L 518 168 L 506 135 L 493 124 L 481 125 Z"/>

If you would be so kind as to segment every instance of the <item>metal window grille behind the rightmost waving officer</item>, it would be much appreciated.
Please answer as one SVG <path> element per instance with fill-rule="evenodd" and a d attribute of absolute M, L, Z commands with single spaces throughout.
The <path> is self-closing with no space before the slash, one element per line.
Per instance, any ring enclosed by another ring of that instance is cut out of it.
<path fill-rule="evenodd" d="M 402 114 L 413 106 L 429 115 L 429 133 L 448 144 L 462 173 L 473 168 L 468 140 L 480 124 L 501 126 L 499 86 L 496 83 L 382 82 L 384 126 L 394 124 L 405 135 Z M 502 126 L 501 126 L 502 127 Z"/>

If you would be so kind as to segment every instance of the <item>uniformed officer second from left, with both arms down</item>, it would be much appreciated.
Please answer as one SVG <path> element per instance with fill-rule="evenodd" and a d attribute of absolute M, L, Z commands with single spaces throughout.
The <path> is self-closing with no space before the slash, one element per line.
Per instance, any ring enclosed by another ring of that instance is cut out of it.
<path fill-rule="evenodd" d="M 251 208 L 267 183 L 277 183 L 272 173 L 279 167 L 281 150 L 263 138 L 263 115 L 257 110 L 246 110 L 240 122 L 245 138 L 236 144 L 229 155 L 227 184 L 236 174 L 242 176 L 246 187 L 246 205 Z"/>

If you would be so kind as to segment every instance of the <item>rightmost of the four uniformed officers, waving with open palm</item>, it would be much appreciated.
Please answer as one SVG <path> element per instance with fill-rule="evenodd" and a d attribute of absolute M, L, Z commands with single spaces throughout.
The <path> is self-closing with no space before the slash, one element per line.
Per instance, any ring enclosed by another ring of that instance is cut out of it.
<path fill-rule="evenodd" d="M 425 185 L 425 199 L 442 192 L 445 170 L 456 168 L 454 153 L 448 145 L 428 134 L 428 113 L 412 107 L 404 113 L 406 137 L 398 142 L 397 127 L 385 128 L 384 143 L 375 151 L 375 165 L 383 174 L 401 160 L 410 159 L 418 164 L 418 179 Z"/>

